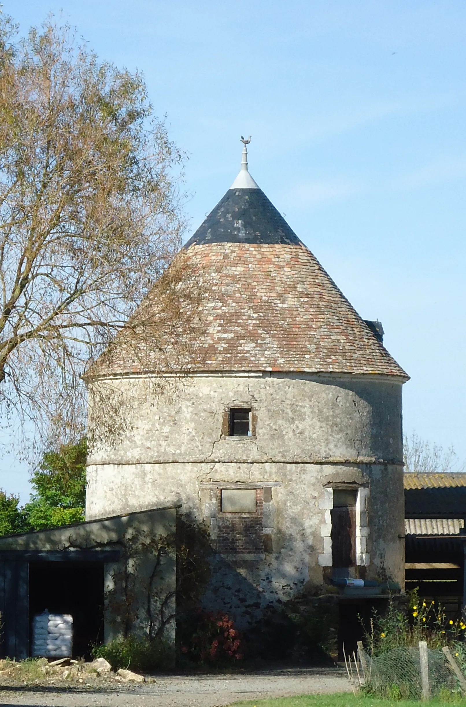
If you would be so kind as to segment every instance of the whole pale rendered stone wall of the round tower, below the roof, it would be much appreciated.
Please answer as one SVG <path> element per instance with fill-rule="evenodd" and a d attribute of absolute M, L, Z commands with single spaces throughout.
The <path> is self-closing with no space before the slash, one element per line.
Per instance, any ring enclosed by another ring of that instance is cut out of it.
<path fill-rule="evenodd" d="M 130 425 L 93 452 L 87 518 L 182 504 L 216 551 L 206 607 L 245 627 L 259 608 L 325 591 L 335 484 L 361 489 L 356 553 L 367 578 L 403 584 L 400 383 L 271 372 L 193 376 L 158 395 L 141 378 L 112 385 L 132 401 Z M 226 436 L 229 407 L 252 409 L 254 436 Z M 262 516 L 228 520 L 221 488 L 257 489 Z"/>

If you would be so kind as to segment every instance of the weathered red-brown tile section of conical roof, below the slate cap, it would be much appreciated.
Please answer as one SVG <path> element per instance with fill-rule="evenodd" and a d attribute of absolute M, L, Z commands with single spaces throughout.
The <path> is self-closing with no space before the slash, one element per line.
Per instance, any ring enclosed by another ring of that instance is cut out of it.
<path fill-rule="evenodd" d="M 164 347 L 144 347 L 144 364 L 119 346 L 120 335 L 91 375 L 182 368 L 408 378 L 301 243 L 193 244 L 180 257 L 199 288 L 197 328 L 189 317 L 178 328 L 175 323 Z M 156 321 L 160 308 L 154 292 L 141 309 Z M 177 342 L 183 340 L 192 347 L 180 358 Z"/>

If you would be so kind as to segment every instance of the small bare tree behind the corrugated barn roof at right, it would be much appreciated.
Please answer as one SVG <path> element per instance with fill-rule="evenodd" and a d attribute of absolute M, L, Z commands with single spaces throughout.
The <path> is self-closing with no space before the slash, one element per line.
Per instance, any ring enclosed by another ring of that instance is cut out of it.
<path fill-rule="evenodd" d="M 441 445 L 421 439 L 416 432 L 403 438 L 403 459 L 405 472 L 463 472 L 465 462 L 460 462 L 455 450 L 444 451 Z"/>

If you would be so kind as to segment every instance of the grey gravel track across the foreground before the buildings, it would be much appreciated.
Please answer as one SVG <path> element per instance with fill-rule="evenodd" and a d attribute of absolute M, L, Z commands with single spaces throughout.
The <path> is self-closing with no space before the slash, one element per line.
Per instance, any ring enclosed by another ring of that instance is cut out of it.
<path fill-rule="evenodd" d="M 276 670 L 235 675 L 155 676 L 155 682 L 111 688 L 0 686 L 0 707 L 217 707 L 231 702 L 351 691 L 339 670 Z"/>

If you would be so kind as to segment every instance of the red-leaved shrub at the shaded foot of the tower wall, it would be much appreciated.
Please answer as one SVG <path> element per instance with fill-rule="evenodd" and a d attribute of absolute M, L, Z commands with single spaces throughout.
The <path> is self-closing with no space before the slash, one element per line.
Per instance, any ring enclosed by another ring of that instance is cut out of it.
<path fill-rule="evenodd" d="M 196 612 L 196 626 L 191 645 L 182 645 L 181 652 L 196 662 L 231 662 L 242 660 L 245 644 L 233 619 L 224 612 Z"/>

